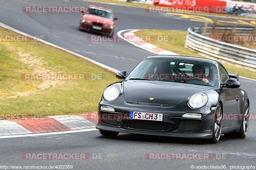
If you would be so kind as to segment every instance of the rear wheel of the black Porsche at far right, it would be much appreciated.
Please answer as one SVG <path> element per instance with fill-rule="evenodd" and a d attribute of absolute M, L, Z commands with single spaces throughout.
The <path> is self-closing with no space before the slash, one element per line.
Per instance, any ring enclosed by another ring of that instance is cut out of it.
<path fill-rule="evenodd" d="M 243 117 L 241 121 L 241 127 L 238 132 L 231 132 L 224 134 L 227 138 L 245 138 L 249 128 L 249 103 L 248 101 L 244 104 Z"/>

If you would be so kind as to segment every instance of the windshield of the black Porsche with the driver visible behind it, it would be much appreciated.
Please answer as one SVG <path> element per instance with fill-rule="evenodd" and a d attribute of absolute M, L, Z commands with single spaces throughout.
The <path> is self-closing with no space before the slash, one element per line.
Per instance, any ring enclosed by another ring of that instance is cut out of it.
<path fill-rule="evenodd" d="M 207 62 L 172 59 L 145 59 L 127 77 L 218 87 L 217 67 Z"/>

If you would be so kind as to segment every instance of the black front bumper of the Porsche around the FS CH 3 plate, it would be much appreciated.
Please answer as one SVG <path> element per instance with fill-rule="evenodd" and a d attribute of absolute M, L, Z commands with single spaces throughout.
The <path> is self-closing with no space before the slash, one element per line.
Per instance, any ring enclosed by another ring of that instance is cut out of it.
<path fill-rule="evenodd" d="M 101 105 L 114 107 L 115 112 L 101 111 Z M 163 121 L 134 120 L 129 118 L 130 111 L 163 113 L 164 117 Z M 202 118 L 183 118 L 182 115 L 185 113 L 201 113 Z M 144 105 L 143 103 L 127 103 L 122 97 L 118 97 L 113 102 L 105 101 L 102 98 L 98 107 L 96 128 L 106 131 L 180 138 L 212 138 L 214 113 L 215 110 L 210 107 L 192 109 L 185 102 L 163 107 Z M 108 120 L 109 118 L 111 121 Z"/>

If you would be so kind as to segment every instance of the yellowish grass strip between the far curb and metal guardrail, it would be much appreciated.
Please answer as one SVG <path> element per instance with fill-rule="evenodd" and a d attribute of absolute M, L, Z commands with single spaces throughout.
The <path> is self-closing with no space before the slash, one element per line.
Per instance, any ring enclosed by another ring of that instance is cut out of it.
<path fill-rule="evenodd" d="M 150 42 L 151 44 L 158 46 L 160 48 L 172 51 L 174 53 L 178 53 L 180 55 L 185 56 L 194 56 L 201 57 L 196 51 L 191 51 L 188 48 L 185 48 L 185 40 L 187 31 L 172 31 L 172 30 L 141 30 L 139 32 L 135 32 L 136 35 L 169 35 L 172 37 L 171 41 L 162 41 L 162 42 Z M 239 73 L 239 75 L 256 79 L 256 73 L 242 69 L 230 64 L 223 63 L 228 72 L 231 73 Z"/>

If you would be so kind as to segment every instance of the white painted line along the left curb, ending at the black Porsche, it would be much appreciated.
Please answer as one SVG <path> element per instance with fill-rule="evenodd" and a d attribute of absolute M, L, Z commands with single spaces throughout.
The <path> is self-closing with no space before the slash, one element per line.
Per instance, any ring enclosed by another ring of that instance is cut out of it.
<path fill-rule="evenodd" d="M 55 134 L 64 134 L 64 133 L 76 133 L 76 132 L 85 132 L 85 131 L 96 131 L 98 129 L 82 129 L 82 130 L 72 130 L 72 131 L 57 131 L 57 132 L 45 132 L 45 133 L 34 133 L 34 134 L 24 134 L 24 135 L 9 135 L 9 136 L 0 136 L 1 138 L 19 138 L 19 137 L 34 137 L 34 136 L 43 136 L 43 135 L 55 135 Z"/>

